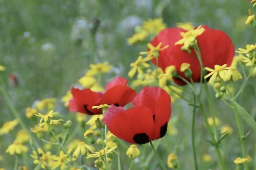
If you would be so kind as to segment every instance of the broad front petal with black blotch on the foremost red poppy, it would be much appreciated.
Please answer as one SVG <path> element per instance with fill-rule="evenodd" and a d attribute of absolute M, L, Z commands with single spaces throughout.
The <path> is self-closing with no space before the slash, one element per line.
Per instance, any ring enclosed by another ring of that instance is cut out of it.
<path fill-rule="evenodd" d="M 145 144 L 154 137 L 152 113 L 144 106 L 125 111 L 111 105 L 103 116 L 103 122 L 113 135 L 129 143 Z"/>

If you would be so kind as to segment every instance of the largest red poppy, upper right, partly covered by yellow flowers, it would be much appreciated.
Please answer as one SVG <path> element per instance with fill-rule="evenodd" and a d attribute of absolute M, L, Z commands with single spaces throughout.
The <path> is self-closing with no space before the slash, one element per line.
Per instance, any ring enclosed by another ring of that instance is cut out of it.
<path fill-rule="evenodd" d="M 232 40 L 227 36 L 226 33 L 220 30 L 205 28 L 203 34 L 197 37 L 198 46 L 201 51 L 201 57 L 204 67 L 214 68 L 214 65 L 230 65 L 235 55 L 235 48 Z M 159 51 L 159 67 L 163 70 L 170 65 L 175 65 L 177 73 L 183 78 L 185 77 L 184 72 L 180 72 L 180 65 L 183 62 L 190 64 L 192 70 L 192 79 L 194 82 L 200 81 L 200 63 L 197 59 L 195 51 L 189 54 L 187 51 L 182 51 L 182 45 L 175 45 L 175 42 L 180 40 L 180 32 L 186 32 L 182 28 L 166 28 L 161 31 L 150 43 L 154 46 L 162 42 L 162 47 L 169 45 L 169 48 Z M 156 64 L 155 59 L 153 60 Z M 175 79 L 177 84 L 184 84 L 181 80 Z"/>

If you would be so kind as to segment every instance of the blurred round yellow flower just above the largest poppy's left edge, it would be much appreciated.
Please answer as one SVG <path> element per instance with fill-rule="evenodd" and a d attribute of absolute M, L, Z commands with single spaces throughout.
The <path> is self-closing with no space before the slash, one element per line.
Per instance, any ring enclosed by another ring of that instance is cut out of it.
<path fill-rule="evenodd" d="M 150 34 L 158 34 L 166 28 L 166 24 L 163 23 L 163 18 L 148 19 L 142 24 L 142 30 L 146 30 Z"/>

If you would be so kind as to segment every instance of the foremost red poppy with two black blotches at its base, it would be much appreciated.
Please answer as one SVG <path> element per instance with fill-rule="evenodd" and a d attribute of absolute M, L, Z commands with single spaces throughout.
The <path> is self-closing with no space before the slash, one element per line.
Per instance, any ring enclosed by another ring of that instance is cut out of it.
<path fill-rule="evenodd" d="M 171 116 L 171 98 L 159 87 L 145 87 L 133 99 L 133 108 L 111 105 L 103 116 L 108 129 L 129 143 L 145 144 L 165 136 Z"/>

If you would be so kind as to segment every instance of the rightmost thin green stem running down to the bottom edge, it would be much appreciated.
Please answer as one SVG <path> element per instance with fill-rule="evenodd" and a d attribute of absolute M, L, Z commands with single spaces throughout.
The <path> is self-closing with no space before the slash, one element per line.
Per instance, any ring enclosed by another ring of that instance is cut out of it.
<path fill-rule="evenodd" d="M 239 115 L 238 115 L 236 105 L 233 107 L 233 110 L 234 110 L 235 116 L 236 116 L 236 124 L 237 124 L 238 131 L 239 131 L 239 138 L 240 138 L 240 142 L 241 142 L 242 155 L 243 155 L 243 158 L 246 158 L 246 150 L 245 150 L 245 144 L 244 144 L 244 139 L 243 139 L 244 135 L 243 135 L 243 132 L 242 132 L 242 129 L 241 129 L 241 123 L 240 123 L 240 119 L 239 119 Z M 244 167 L 245 167 L 245 170 L 248 170 L 247 161 L 244 162 Z"/>

